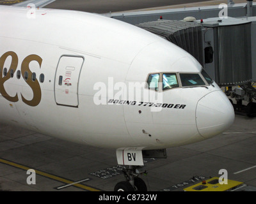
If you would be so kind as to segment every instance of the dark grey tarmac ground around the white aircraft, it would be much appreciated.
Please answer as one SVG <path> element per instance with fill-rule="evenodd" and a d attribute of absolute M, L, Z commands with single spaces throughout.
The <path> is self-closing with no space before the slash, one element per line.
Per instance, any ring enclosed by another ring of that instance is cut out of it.
<path fill-rule="evenodd" d="M 105 4 L 93 6 L 93 2 L 57 0 L 48 7 L 61 8 L 62 4 L 74 10 L 109 12 Z M 109 2 L 111 11 L 170 4 L 170 1 L 154 1 L 157 5 L 147 1 L 145 5 L 136 1 L 133 7 L 134 3 L 125 6 L 123 0 L 118 0 L 119 5 L 116 1 Z M 173 4 L 177 2 L 185 1 Z M 200 180 L 220 177 L 219 171 L 225 169 L 228 179 L 244 182 L 248 189 L 256 191 L 255 124 L 256 118 L 236 115 L 234 124 L 221 135 L 168 149 L 167 159 L 147 159 L 148 173 L 141 175 L 141 179 L 145 180 L 148 191 L 183 191 Z M 29 169 L 35 170 L 35 184 L 29 184 L 33 181 L 30 177 L 33 174 L 27 174 Z M 0 124 L 0 191 L 113 191 L 122 180 L 122 166 L 117 165 L 115 150 L 65 142 Z"/>

